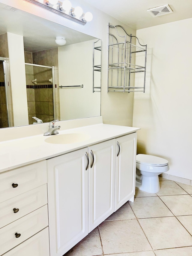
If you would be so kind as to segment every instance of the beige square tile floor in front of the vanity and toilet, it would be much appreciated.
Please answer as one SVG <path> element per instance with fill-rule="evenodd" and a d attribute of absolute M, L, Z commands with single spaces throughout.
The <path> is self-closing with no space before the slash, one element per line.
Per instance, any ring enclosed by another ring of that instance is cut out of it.
<path fill-rule="evenodd" d="M 136 189 L 64 256 L 192 256 L 192 186 L 160 177 L 161 190 Z"/>

